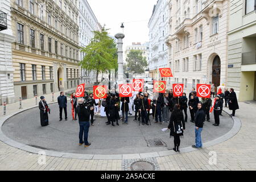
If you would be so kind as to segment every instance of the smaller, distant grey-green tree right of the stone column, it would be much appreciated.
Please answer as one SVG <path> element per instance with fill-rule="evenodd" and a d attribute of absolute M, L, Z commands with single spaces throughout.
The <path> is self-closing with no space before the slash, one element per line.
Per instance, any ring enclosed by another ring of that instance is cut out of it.
<path fill-rule="evenodd" d="M 129 72 L 133 74 L 144 73 L 147 67 L 146 57 L 143 57 L 140 50 L 131 50 L 127 55 L 126 63 L 126 69 L 129 69 Z"/>

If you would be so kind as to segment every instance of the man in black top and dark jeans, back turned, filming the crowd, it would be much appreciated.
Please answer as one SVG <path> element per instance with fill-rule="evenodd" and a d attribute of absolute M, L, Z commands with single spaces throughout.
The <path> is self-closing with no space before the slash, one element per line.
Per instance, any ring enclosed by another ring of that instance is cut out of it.
<path fill-rule="evenodd" d="M 88 142 L 88 132 L 90 127 L 90 111 L 93 111 L 93 107 L 86 107 L 83 104 L 84 101 L 81 99 L 78 100 L 79 105 L 77 106 L 77 115 L 79 117 L 79 145 L 81 146 L 84 143 L 84 147 L 89 147 L 90 143 Z M 84 135 L 84 140 L 82 136 Z"/>

